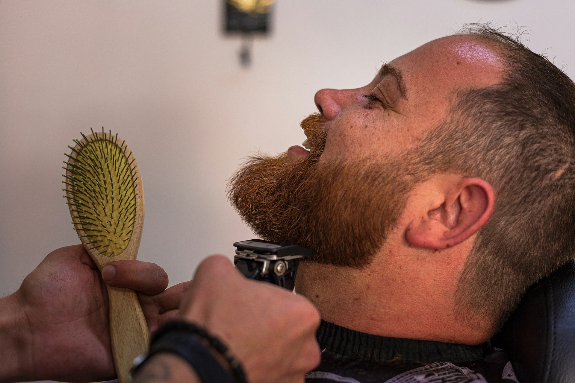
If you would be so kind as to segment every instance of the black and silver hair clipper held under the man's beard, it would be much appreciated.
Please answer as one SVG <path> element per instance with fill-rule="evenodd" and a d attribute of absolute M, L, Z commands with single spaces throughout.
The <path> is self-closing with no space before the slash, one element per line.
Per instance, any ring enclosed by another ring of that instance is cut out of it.
<path fill-rule="evenodd" d="M 266 281 L 293 291 L 301 258 L 312 257 L 315 250 L 290 243 L 250 239 L 233 244 L 233 263 L 244 276 Z"/>

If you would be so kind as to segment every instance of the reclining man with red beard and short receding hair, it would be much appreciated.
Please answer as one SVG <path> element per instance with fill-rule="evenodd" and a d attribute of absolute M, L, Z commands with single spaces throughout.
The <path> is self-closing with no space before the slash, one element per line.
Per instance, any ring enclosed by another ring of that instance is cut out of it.
<path fill-rule="evenodd" d="M 309 152 L 252 157 L 228 190 L 255 233 L 317 250 L 307 380 L 515 381 L 488 341 L 573 257 L 575 84 L 476 25 L 315 103 Z"/>

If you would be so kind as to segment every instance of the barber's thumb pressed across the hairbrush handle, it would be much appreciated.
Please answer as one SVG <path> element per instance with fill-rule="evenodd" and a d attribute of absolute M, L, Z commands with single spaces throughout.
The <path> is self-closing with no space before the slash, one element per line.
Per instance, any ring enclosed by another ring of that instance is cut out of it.
<path fill-rule="evenodd" d="M 102 278 L 113 287 L 131 288 L 147 295 L 162 292 L 168 285 L 168 274 L 151 262 L 114 261 L 104 266 Z"/>

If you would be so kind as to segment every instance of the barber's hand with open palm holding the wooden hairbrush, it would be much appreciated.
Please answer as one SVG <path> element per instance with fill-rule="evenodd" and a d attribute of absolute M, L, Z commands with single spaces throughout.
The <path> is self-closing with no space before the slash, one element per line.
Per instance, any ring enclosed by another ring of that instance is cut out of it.
<path fill-rule="evenodd" d="M 166 272 L 148 262 L 111 262 L 102 274 L 112 286 L 141 292 L 138 297 L 150 331 L 177 316 L 187 288 L 185 283 L 164 291 Z M 93 382 L 116 377 L 108 293 L 82 245 L 48 254 L 11 298 L 24 313 L 27 333 L 21 380 Z"/>

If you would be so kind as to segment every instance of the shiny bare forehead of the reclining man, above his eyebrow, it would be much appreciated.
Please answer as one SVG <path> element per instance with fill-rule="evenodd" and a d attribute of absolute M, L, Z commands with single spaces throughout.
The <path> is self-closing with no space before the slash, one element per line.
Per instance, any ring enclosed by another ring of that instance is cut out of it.
<path fill-rule="evenodd" d="M 441 121 L 454 91 L 500 82 L 503 60 L 489 41 L 463 35 L 438 38 L 390 62 L 407 88 L 406 115 Z"/>

